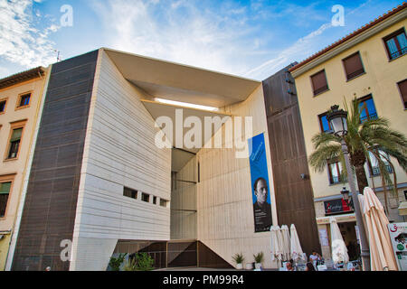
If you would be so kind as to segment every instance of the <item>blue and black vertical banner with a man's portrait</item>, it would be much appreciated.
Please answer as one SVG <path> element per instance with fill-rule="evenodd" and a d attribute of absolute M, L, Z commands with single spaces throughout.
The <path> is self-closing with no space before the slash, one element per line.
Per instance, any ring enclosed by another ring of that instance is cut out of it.
<path fill-rule="evenodd" d="M 267 170 L 264 134 L 249 139 L 251 164 L 251 195 L 253 200 L 254 231 L 265 232 L 271 227 L 269 172 Z"/>

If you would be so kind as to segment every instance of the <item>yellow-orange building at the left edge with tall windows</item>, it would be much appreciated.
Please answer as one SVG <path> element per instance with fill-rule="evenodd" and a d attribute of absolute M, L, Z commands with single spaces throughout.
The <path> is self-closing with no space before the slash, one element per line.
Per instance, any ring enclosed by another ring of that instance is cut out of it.
<path fill-rule="evenodd" d="M 47 69 L 0 79 L 0 270 L 5 269 L 33 135 L 43 100 Z"/>

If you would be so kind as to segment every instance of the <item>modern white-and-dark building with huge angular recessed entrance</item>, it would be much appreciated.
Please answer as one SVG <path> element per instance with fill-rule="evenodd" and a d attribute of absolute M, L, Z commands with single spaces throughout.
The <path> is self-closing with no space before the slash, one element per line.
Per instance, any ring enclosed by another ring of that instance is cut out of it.
<path fill-rule="evenodd" d="M 105 48 L 48 70 L 6 270 L 106 270 L 113 254 L 141 250 L 158 266 L 185 266 L 194 255 L 195 266 L 208 267 L 232 267 L 236 253 L 251 263 L 262 251 L 271 268 L 270 225 L 292 223 L 304 251 L 318 247 L 311 187 L 300 178 L 307 165 L 298 108 L 289 127 L 299 149 L 287 157 L 302 169 L 275 190 L 282 171 L 270 150 L 283 135 L 270 129 L 268 109 L 286 104 L 272 100 L 270 85 L 291 84 Z M 269 223 L 256 215 L 253 172 L 262 173 Z M 301 201 L 289 204 L 296 194 Z"/>

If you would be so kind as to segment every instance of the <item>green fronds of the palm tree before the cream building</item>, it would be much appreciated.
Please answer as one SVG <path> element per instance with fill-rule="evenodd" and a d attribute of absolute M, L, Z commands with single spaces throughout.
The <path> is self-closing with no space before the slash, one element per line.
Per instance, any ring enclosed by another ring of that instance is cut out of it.
<path fill-rule="evenodd" d="M 355 169 L 358 190 L 363 193 L 364 187 L 368 186 L 364 163 L 369 158 L 370 152 L 374 155 L 379 166 L 385 206 L 388 212 L 386 186 L 392 187 L 393 192 L 397 194 L 397 179 L 389 156 L 396 159 L 402 170 L 407 172 L 407 138 L 402 133 L 390 128 L 389 121 L 383 117 L 368 118 L 361 122 L 360 116 L 364 107 L 359 106 L 359 101 L 356 98 L 352 100 L 350 113 L 345 101 L 344 105 L 345 110 L 348 111 L 346 118 L 348 132 L 345 135 L 345 143 L 349 150 L 350 163 Z M 339 136 L 325 132 L 320 133 L 312 137 L 312 143 L 315 151 L 309 156 L 308 161 L 315 172 L 323 172 L 329 160 L 337 158 L 344 168 L 341 175 L 346 175 Z M 386 169 L 386 164 L 393 169 L 394 186 L 390 173 Z"/>

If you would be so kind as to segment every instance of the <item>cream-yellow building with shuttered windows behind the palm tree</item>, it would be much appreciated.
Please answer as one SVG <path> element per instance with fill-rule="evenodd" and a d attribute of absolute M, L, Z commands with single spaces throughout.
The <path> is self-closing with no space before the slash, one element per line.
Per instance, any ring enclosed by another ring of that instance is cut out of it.
<path fill-rule="evenodd" d="M 385 117 L 390 126 L 407 135 L 407 4 L 394 8 L 382 17 L 364 25 L 319 51 L 307 60 L 290 68 L 298 91 L 298 103 L 305 135 L 306 151 L 312 154 L 313 135 L 327 132 L 327 111 L 333 105 L 344 107 L 358 98 L 366 118 Z M 398 196 L 388 190 L 390 221 L 405 221 L 402 201 L 406 200 L 407 175 L 393 160 Z M 384 205 L 383 185 L 377 161 L 374 157 L 365 164 L 369 186 L 374 189 Z M 336 217 L 345 238 L 351 258 L 357 254 L 355 248 L 355 213 L 342 200 L 343 187 L 348 184 L 341 177 L 338 160 L 331 160 L 325 172 L 315 172 L 309 167 L 314 191 L 315 210 L 320 244 L 326 258 L 330 257 L 329 217 Z"/>

